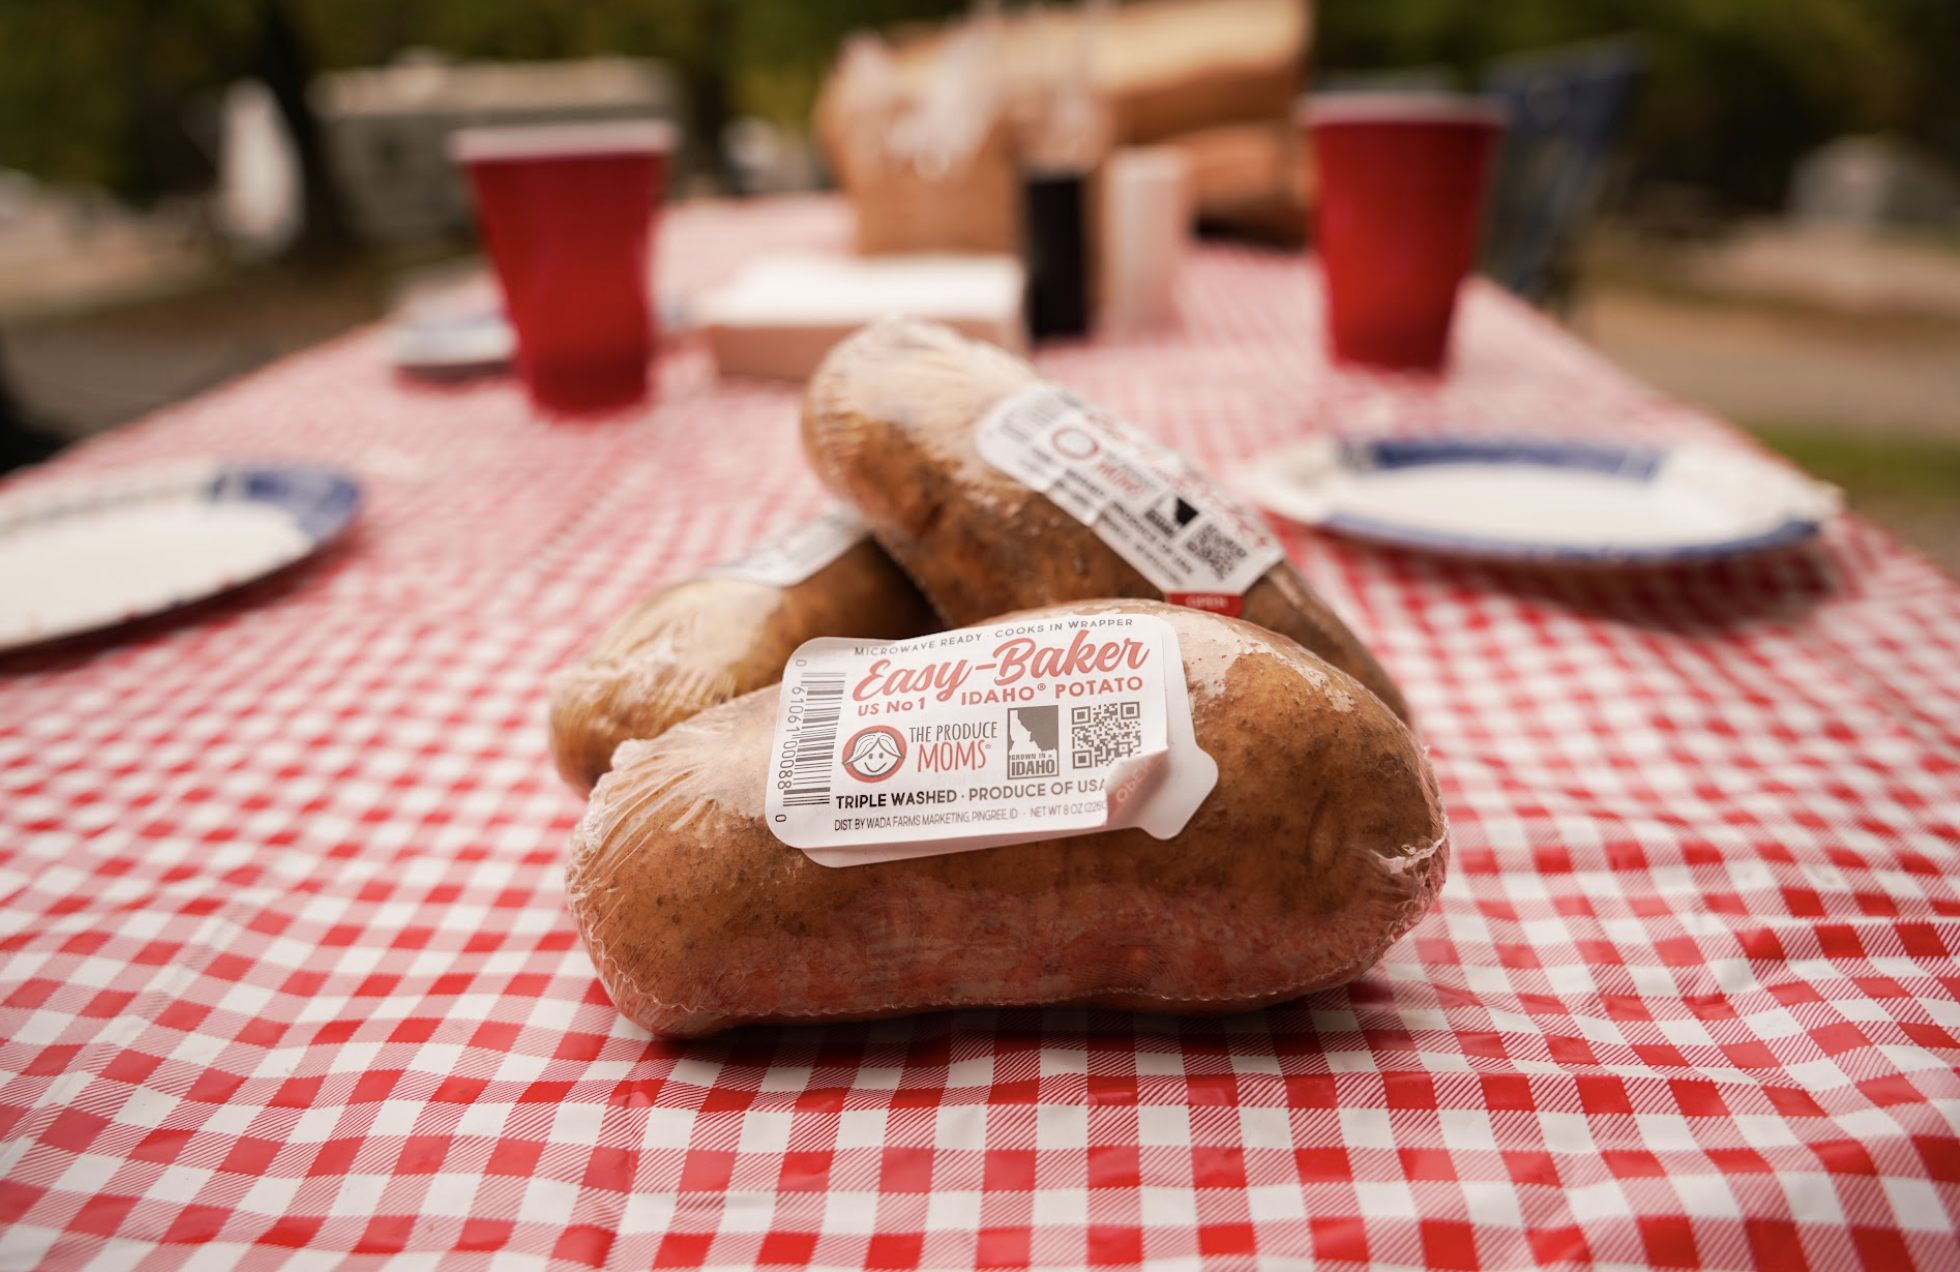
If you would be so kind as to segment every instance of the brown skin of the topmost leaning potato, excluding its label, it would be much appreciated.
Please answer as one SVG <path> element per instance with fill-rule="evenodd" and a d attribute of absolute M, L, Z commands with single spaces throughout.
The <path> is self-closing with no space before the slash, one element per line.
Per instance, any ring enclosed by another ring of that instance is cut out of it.
<path fill-rule="evenodd" d="M 1007 610 L 1164 594 L 1098 533 L 982 459 L 988 408 L 1035 368 L 949 327 L 886 319 L 829 353 L 804 392 L 804 449 L 953 625 Z M 1401 719 L 1401 688 L 1282 561 L 1239 617 L 1292 637 L 1360 680 Z"/>

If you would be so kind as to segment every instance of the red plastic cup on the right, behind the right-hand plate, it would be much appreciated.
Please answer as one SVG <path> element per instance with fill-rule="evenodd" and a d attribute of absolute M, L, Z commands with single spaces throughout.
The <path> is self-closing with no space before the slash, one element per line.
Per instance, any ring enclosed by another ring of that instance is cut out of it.
<path fill-rule="evenodd" d="M 1437 370 L 1476 259 L 1503 106 L 1452 94 L 1305 98 L 1319 190 L 1313 243 L 1335 361 Z"/>

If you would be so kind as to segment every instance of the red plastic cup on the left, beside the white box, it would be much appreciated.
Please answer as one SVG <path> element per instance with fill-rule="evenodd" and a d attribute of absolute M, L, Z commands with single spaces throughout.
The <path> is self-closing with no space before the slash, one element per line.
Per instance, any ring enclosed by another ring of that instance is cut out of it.
<path fill-rule="evenodd" d="M 674 129 L 649 120 L 470 127 L 451 143 L 504 284 L 517 372 L 547 414 L 647 398 L 649 251 L 672 149 Z"/>

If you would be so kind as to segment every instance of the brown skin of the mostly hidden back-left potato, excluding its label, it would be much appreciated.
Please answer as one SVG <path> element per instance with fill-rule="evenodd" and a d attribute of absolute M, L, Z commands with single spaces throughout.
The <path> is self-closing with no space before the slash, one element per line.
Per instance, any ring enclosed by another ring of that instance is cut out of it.
<path fill-rule="evenodd" d="M 629 737 L 659 737 L 696 711 L 782 678 L 804 641 L 900 641 L 939 627 L 933 608 L 864 539 L 788 588 L 690 578 L 641 600 L 551 682 L 551 758 L 586 794 Z"/>

